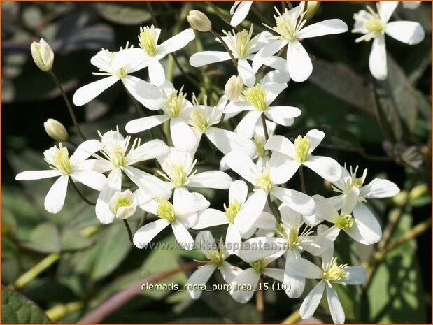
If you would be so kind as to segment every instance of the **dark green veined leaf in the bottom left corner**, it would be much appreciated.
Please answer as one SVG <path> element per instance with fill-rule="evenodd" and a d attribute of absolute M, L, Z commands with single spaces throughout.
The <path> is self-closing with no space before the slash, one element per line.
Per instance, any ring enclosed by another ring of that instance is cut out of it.
<path fill-rule="evenodd" d="M 51 323 L 45 312 L 17 291 L 1 286 L 1 322 Z"/>

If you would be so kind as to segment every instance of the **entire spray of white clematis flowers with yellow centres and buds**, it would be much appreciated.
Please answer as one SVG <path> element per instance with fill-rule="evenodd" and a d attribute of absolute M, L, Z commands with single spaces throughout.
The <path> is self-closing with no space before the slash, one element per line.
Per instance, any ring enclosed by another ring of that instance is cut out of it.
<path fill-rule="evenodd" d="M 234 27 L 252 5 L 248 1 L 235 3 L 230 12 Z M 424 37 L 418 23 L 388 22 L 396 6 L 378 3 L 377 13 L 368 7 L 368 11 L 355 15 L 353 31 L 364 34 L 357 41 L 374 39 L 369 63 L 378 79 L 386 77 L 385 34 L 409 44 Z M 233 284 L 230 294 L 239 303 L 252 298 L 262 275 L 283 282 L 290 298 L 304 294 L 306 279 L 317 279 L 318 284 L 301 304 L 301 317 L 313 315 L 326 289 L 332 319 L 344 322 L 334 286 L 362 284 L 367 275 L 361 266 L 348 266 L 334 257 L 334 241 L 344 231 L 359 243 L 377 243 L 381 226 L 367 201 L 395 196 L 399 188 L 379 178 L 367 182 L 367 169 L 360 173 L 357 166 L 346 168 L 331 157 L 313 154 L 325 138 L 318 129 L 292 140 L 274 135 L 277 125 L 290 127 L 302 113 L 297 107 L 279 104 L 278 96 L 286 91 L 290 80 L 303 82 L 313 71 L 304 39 L 348 30 L 338 19 L 308 25 L 308 8 L 302 3 L 283 13 L 276 10 L 274 24 L 266 25 L 269 31 L 256 33 L 252 24 L 241 31 L 223 31 L 225 36 L 217 41 L 226 51 L 205 50 L 190 57 L 194 67 L 229 60 L 235 64 L 239 76 L 227 78 L 226 94 L 215 105 L 208 105 L 206 96 L 197 99 L 188 96 L 183 87 L 174 87 L 159 62 L 190 43 L 196 36 L 193 29 L 161 42 L 161 29 L 141 27 L 138 47 L 99 51 L 91 63 L 99 69 L 94 75 L 104 78 L 78 89 L 73 103 L 83 106 L 121 80 L 128 94 L 152 111 L 130 120 L 125 131 L 139 134 L 164 125 L 165 141 L 141 143 L 140 138 L 124 136 L 117 128 L 99 133 L 98 140 L 86 140 L 71 155 L 66 143 L 51 147 L 44 152 L 50 169 L 24 171 L 16 179 L 57 177 L 45 198 L 45 208 L 52 213 L 62 210 L 68 183 L 76 187 L 75 183 L 81 182 L 99 192 L 95 214 L 103 224 L 115 219 L 126 222 L 138 209 L 154 215 L 154 220 L 136 230 L 134 245 L 146 247 L 171 226 L 185 250 L 196 247 L 206 257 L 188 283 L 205 284 L 219 270 L 227 284 Z M 216 34 L 210 20 L 197 10 L 188 21 L 200 31 Z M 38 66 L 45 70 L 52 67 L 52 51 L 45 41 L 32 45 L 32 51 Z M 145 68 L 149 81 L 132 75 Z M 260 78 L 258 71 L 265 68 L 270 71 Z M 234 119 L 236 115 L 242 117 Z M 50 121 L 45 127 L 55 140 L 68 140 L 62 124 Z M 221 152 L 219 170 L 199 170 L 195 156 L 202 138 Z M 147 162 L 155 162 L 153 171 L 143 168 Z M 304 166 L 332 182 L 336 196 L 310 196 L 304 186 L 303 192 L 289 188 L 288 181 L 298 171 L 303 181 Z M 239 175 L 239 179 L 234 180 L 229 173 Z M 125 187 L 126 180 L 132 187 Z M 206 188 L 228 190 L 227 204 L 209 208 L 211 203 L 204 194 L 194 192 Z M 197 233 L 221 225 L 227 225 L 227 230 L 220 240 L 215 240 L 210 230 Z M 226 259 L 231 256 L 248 267 L 230 264 Z M 312 263 L 312 257 L 320 257 L 321 264 Z M 239 289 L 244 285 L 249 289 Z M 201 291 L 190 290 L 190 295 L 199 298 Z"/>

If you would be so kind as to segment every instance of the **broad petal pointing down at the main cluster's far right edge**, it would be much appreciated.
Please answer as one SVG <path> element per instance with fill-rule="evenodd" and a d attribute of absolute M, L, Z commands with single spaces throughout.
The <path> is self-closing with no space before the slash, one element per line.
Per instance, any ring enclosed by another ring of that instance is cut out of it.
<path fill-rule="evenodd" d="M 374 217 L 373 213 L 363 203 L 358 203 L 353 210 L 353 217 L 360 229 L 361 236 L 367 245 L 377 243 L 382 238 L 381 225 Z"/>

